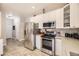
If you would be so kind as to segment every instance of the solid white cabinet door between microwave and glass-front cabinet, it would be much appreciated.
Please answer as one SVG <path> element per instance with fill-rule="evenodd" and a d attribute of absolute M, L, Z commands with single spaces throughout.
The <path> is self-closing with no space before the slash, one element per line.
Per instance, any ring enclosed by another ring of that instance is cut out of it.
<path fill-rule="evenodd" d="M 56 10 L 56 28 L 63 28 L 63 8 Z"/>

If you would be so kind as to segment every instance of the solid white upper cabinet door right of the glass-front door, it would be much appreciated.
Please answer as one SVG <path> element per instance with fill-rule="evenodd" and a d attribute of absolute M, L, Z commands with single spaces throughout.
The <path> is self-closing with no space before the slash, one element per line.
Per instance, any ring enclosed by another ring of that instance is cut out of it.
<path fill-rule="evenodd" d="M 79 28 L 79 4 L 70 4 L 70 26 L 71 28 Z"/>

